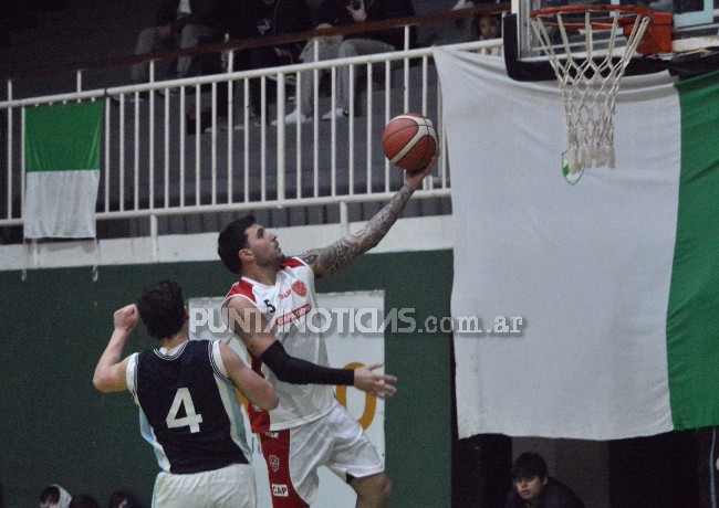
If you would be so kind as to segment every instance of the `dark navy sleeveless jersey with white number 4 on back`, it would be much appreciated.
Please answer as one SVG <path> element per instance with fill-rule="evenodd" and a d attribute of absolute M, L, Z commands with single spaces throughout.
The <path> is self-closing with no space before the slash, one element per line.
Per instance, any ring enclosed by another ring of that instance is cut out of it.
<path fill-rule="evenodd" d="M 143 437 L 163 470 L 188 474 L 248 464 L 244 423 L 219 341 L 135 353 L 127 387 L 140 409 Z"/>

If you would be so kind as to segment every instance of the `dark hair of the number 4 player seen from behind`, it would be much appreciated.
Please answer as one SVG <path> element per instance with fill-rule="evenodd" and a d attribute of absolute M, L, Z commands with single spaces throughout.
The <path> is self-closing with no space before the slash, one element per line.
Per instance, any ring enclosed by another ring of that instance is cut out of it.
<path fill-rule="evenodd" d="M 185 326 L 183 289 L 173 281 L 161 281 L 139 296 L 139 317 L 154 339 L 169 339 Z"/>

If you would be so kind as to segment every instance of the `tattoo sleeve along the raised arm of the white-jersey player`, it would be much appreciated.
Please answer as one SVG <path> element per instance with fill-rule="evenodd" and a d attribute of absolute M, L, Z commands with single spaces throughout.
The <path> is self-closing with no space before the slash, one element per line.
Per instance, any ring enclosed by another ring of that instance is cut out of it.
<path fill-rule="evenodd" d="M 409 187 L 403 187 L 362 231 L 347 235 L 321 251 L 310 251 L 302 258 L 309 264 L 317 260 L 321 268 L 317 274 L 320 276 L 331 275 L 348 266 L 385 237 L 393 224 L 397 222 L 413 190 Z M 308 261 L 310 257 L 311 262 Z"/>

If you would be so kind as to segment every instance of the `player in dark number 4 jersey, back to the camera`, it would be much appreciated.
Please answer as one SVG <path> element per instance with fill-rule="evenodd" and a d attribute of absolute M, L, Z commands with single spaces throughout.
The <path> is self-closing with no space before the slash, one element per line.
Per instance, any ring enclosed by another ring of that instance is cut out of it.
<path fill-rule="evenodd" d="M 138 319 L 159 347 L 121 360 Z M 115 311 L 115 329 L 93 383 L 101 392 L 129 390 L 142 433 L 161 468 L 153 507 L 256 508 L 254 473 L 237 388 L 263 410 L 278 405 L 271 384 L 225 342 L 189 340 L 180 287 L 163 281 L 136 304 Z"/>

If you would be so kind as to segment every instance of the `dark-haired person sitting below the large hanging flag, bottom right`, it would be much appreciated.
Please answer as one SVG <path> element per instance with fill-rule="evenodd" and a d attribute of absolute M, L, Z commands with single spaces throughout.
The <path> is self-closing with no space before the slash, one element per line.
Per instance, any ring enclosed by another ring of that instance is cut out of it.
<path fill-rule="evenodd" d="M 512 488 L 504 508 L 584 508 L 584 504 L 570 488 L 550 478 L 541 455 L 527 452 L 517 457 L 512 466 Z"/>

